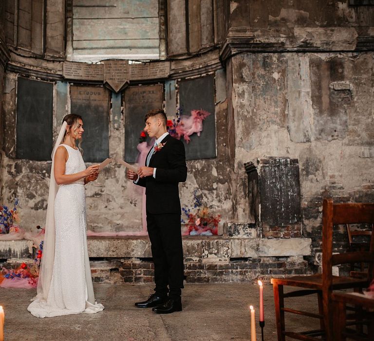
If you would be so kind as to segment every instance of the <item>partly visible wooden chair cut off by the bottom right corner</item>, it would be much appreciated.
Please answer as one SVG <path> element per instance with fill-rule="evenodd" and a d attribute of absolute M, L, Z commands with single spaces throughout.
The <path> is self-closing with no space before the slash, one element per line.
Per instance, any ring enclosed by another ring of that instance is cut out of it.
<path fill-rule="evenodd" d="M 350 293 L 333 293 L 331 295 L 334 314 L 333 338 L 334 341 L 368 340 L 374 339 L 374 299 L 364 295 L 356 296 Z M 366 324 L 367 333 L 362 328 L 347 328 L 347 305 L 354 305 L 362 309 L 361 314 L 350 324 Z"/>

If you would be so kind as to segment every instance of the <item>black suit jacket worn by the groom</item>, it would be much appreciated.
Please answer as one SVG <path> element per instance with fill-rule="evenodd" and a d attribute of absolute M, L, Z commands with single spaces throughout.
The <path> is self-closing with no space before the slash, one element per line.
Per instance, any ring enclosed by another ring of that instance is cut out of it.
<path fill-rule="evenodd" d="M 161 143 L 165 143 L 164 147 L 153 153 L 149 164 L 149 167 L 157 168 L 156 178 L 141 178 L 136 185 L 146 188 L 147 213 L 181 214 L 178 184 L 187 178 L 185 145 L 170 135 Z"/>

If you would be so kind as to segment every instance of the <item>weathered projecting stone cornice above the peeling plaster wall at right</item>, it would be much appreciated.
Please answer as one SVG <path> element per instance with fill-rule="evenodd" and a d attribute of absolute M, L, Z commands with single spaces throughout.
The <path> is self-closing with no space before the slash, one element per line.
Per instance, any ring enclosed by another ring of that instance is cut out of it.
<path fill-rule="evenodd" d="M 374 51 L 370 28 L 294 27 L 257 29 L 231 27 L 220 50 L 224 62 L 238 53 L 275 52 L 361 52 Z"/>

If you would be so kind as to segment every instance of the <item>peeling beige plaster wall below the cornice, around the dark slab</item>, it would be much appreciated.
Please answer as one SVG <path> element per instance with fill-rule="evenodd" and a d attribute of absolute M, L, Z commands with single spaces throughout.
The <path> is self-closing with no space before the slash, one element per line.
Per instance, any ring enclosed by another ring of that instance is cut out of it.
<path fill-rule="evenodd" d="M 303 236 L 318 248 L 322 197 L 374 200 L 374 54 L 245 53 L 232 77 L 237 221 L 250 219 L 243 163 L 296 158 Z"/>

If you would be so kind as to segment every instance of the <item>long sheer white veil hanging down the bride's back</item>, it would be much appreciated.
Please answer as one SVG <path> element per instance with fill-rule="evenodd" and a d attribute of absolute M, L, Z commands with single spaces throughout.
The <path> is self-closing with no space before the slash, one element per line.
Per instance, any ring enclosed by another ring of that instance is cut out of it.
<path fill-rule="evenodd" d="M 58 190 L 58 185 L 55 181 L 55 153 L 61 144 L 67 123 L 62 123 L 60 132 L 58 133 L 55 147 L 52 152 L 52 166 L 51 166 L 51 180 L 49 184 L 47 217 L 45 220 L 45 234 L 43 242 L 43 255 L 39 269 L 39 279 L 37 282 L 37 296 L 39 301 L 47 301 L 49 287 L 52 280 L 53 263 L 55 260 L 55 198 Z"/>

